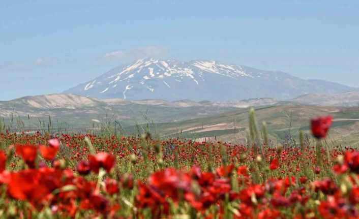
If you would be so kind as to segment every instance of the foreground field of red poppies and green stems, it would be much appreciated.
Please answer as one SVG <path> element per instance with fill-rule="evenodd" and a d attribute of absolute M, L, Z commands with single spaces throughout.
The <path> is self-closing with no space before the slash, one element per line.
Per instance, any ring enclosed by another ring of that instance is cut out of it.
<path fill-rule="evenodd" d="M 270 144 L 250 112 L 246 144 L 0 133 L 1 218 L 359 218 L 359 151 L 312 136 Z"/>

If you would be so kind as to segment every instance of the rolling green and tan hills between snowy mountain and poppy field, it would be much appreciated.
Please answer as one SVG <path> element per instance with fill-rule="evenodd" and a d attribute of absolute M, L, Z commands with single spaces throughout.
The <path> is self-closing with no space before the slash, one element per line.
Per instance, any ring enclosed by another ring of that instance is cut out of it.
<path fill-rule="evenodd" d="M 12 123 L 14 130 L 46 129 L 49 119 L 52 127 L 66 130 L 101 128 L 116 121 L 130 135 L 138 133 L 138 126 L 146 127 L 148 123 L 151 132 L 160 136 L 234 141 L 245 138 L 248 107 L 256 108 L 259 124 L 268 123 L 273 139 L 285 137 L 290 120 L 292 134 L 297 134 L 298 130 L 309 131 L 311 117 L 332 114 L 335 116 L 333 135 L 347 136 L 348 142 L 359 141 L 358 91 L 310 94 L 284 101 L 259 98 L 225 102 L 97 99 L 53 94 L 1 101 L 0 118 L 7 127 Z"/>

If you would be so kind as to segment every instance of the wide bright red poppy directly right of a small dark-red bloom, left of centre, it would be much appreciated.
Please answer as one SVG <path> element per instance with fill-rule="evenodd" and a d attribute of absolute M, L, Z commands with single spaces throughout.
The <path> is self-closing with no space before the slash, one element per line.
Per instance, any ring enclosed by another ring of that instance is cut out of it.
<path fill-rule="evenodd" d="M 105 152 L 97 153 L 96 155 L 88 155 L 89 167 L 95 173 L 99 173 L 100 168 L 104 168 L 108 173 L 115 166 L 115 157 L 112 154 Z"/>

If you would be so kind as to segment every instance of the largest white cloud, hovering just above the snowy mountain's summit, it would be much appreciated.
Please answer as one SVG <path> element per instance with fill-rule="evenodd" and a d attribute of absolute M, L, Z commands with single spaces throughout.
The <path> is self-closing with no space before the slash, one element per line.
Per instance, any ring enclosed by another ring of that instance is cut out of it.
<path fill-rule="evenodd" d="M 128 62 L 144 57 L 165 57 L 168 50 L 165 46 L 136 47 L 127 51 L 119 50 L 106 53 L 103 59 L 116 62 Z"/>

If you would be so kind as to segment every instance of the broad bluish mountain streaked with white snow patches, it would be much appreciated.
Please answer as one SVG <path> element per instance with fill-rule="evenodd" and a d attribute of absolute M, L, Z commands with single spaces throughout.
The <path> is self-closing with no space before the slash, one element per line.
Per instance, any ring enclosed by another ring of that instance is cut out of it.
<path fill-rule="evenodd" d="M 101 99 L 236 101 L 253 98 L 291 99 L 307 93 L 346 92 L 353 88 L 287 73 L 229 65 L 214 60 L 139 59 L 63 93 Z"/>

